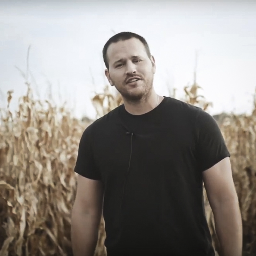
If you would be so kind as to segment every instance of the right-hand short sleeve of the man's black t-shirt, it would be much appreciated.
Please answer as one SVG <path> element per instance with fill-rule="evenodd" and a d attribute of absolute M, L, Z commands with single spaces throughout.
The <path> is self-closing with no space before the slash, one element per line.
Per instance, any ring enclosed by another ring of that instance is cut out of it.
<path fill-rule="evenodd" d="M 201 108 L 196 117 L 196 134 L 196 157 L 201 172 L 230 157 L 217 122 Z"/>

